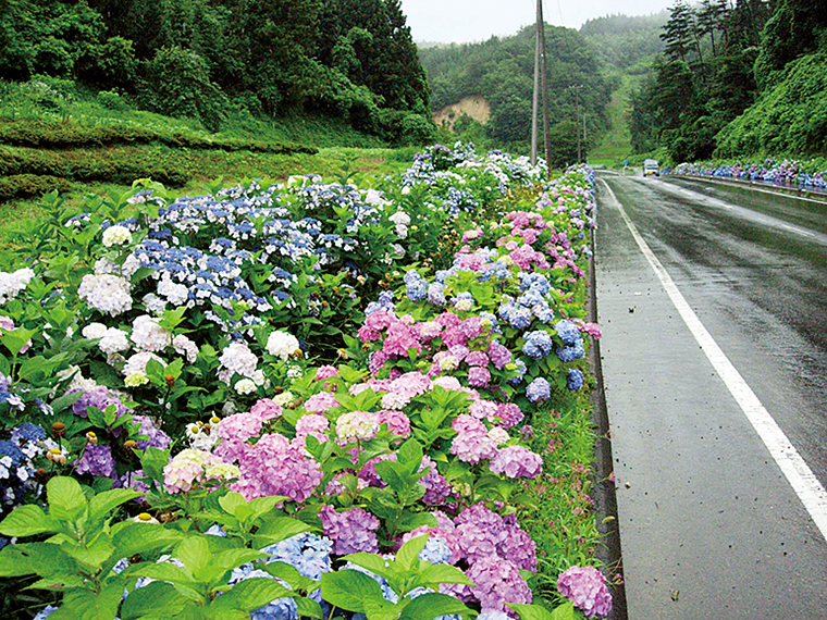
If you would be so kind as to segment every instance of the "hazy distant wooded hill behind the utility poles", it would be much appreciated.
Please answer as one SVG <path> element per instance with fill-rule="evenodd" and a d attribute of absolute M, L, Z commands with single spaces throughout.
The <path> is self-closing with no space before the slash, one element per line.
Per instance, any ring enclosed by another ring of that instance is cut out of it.
<path fill-rule="evenodd" d="M 421 49 L 433 109 L 466 97 L 484 97 L 491 106 L 491 119 L 484 128 L 476 127 L 477 135 L 491 146 L 528 152 L 534 36 L 534 26 L 527 26 L 510 37 Z M 546 24 L 545 39 L 552 164 L 559 166 L 577 160 L 578 129 L 583 123 L 587 150 L 605 131 L 612 84 L 603 77 L 596 53 L 577 30 Z M 462 131 L 469 125 L 473 123 L 465 120 L 455 127 Z"/>

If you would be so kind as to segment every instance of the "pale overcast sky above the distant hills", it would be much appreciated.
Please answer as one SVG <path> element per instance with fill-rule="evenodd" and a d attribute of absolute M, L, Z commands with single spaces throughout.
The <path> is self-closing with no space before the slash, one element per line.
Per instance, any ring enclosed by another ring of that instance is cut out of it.
<path fill-rule="evenodd" d="M 580 28 L 592 17 L 612 13 L 646 15 L 674 0 L 543 0 L 547 24 Z M 514 35 L 534 23 L 536 0 L 402 0 L 415 41 L 467 42 Z"/>

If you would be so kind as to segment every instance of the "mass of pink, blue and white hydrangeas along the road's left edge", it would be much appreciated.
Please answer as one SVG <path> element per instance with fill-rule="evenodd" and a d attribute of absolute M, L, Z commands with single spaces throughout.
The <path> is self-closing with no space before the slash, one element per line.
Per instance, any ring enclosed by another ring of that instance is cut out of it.
<path fill-rule="evenodd" d="M 0 534 L 76 550 L 15 541 L 0 573 L 61 583 L 53 620 L 529 609 L 552 578 L 518 516 L 556 475 L 532 423 L 582 400 L 600 337 L 593 178 L 543 174 L 457 145 L 367 190 L 52 197 L 42 257 L 0 274 Z"/>

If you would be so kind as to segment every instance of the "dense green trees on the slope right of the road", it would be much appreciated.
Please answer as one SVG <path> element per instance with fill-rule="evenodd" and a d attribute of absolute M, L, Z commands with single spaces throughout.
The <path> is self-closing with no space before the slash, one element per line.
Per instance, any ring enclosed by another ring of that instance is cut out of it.
<path fill-rule="evenodd" d="M 827 153 L 827 11 L 810 0 L 675 2 L 633 97 L 632 146 L 675 162 Z"/>

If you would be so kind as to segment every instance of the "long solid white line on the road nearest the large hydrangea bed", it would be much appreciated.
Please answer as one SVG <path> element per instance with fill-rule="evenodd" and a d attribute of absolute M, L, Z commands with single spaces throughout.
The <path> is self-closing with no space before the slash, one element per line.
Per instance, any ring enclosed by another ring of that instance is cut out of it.
<path fill-rule="evenodd" d="M 650 249 L 649 244 L 641 237 L 638 228 L 626 213 L 626 209 L 624 209 L 624 206 L 608 186 L 608 183 L 602 178 L 601 183 L 608 191 L 612 201 L 620 212 L 638 247 L 655 271 L 666 294 L 671 299 L 675 308 L 677 308 L 689 331 L 692 332 L 692 335 L 704 354 L 706 354 L 718 376 L 724 381 L 730 394 L 744 412 L 744 416 L 746 416 L 746 419 L 758 433 L 773 459 L 781 468 L 804 508 L 806 508 L 816 526 L 820 530 L 822 535 L 827 538 L 827 492 L 824 489 L 824 486 L 822 486 L 822 483 L 818 482 L 818 479 L 816 479 L 813 471 L 804 462 L 804 459 L 801 458 L 801 455 L 799 455 L 795 447 L 787 438 L 787 435 L 783 434 L 783 431 L 781 431 L 769 412 L 761 404 L 758 397 L 755 396 L 755 393 L 741 376 L 741 373 L 732 365 L 732 362 L 729 361 L 729 358 L 727 358 L 709 332 L 701 323 L 701 320 L 692 308 L 690 308 L 683 295 L 681 295 L 675 282 L 664 269 L 664 265 L 661 264 L 661 261 L 657 260 L 657 257 Z"/>

